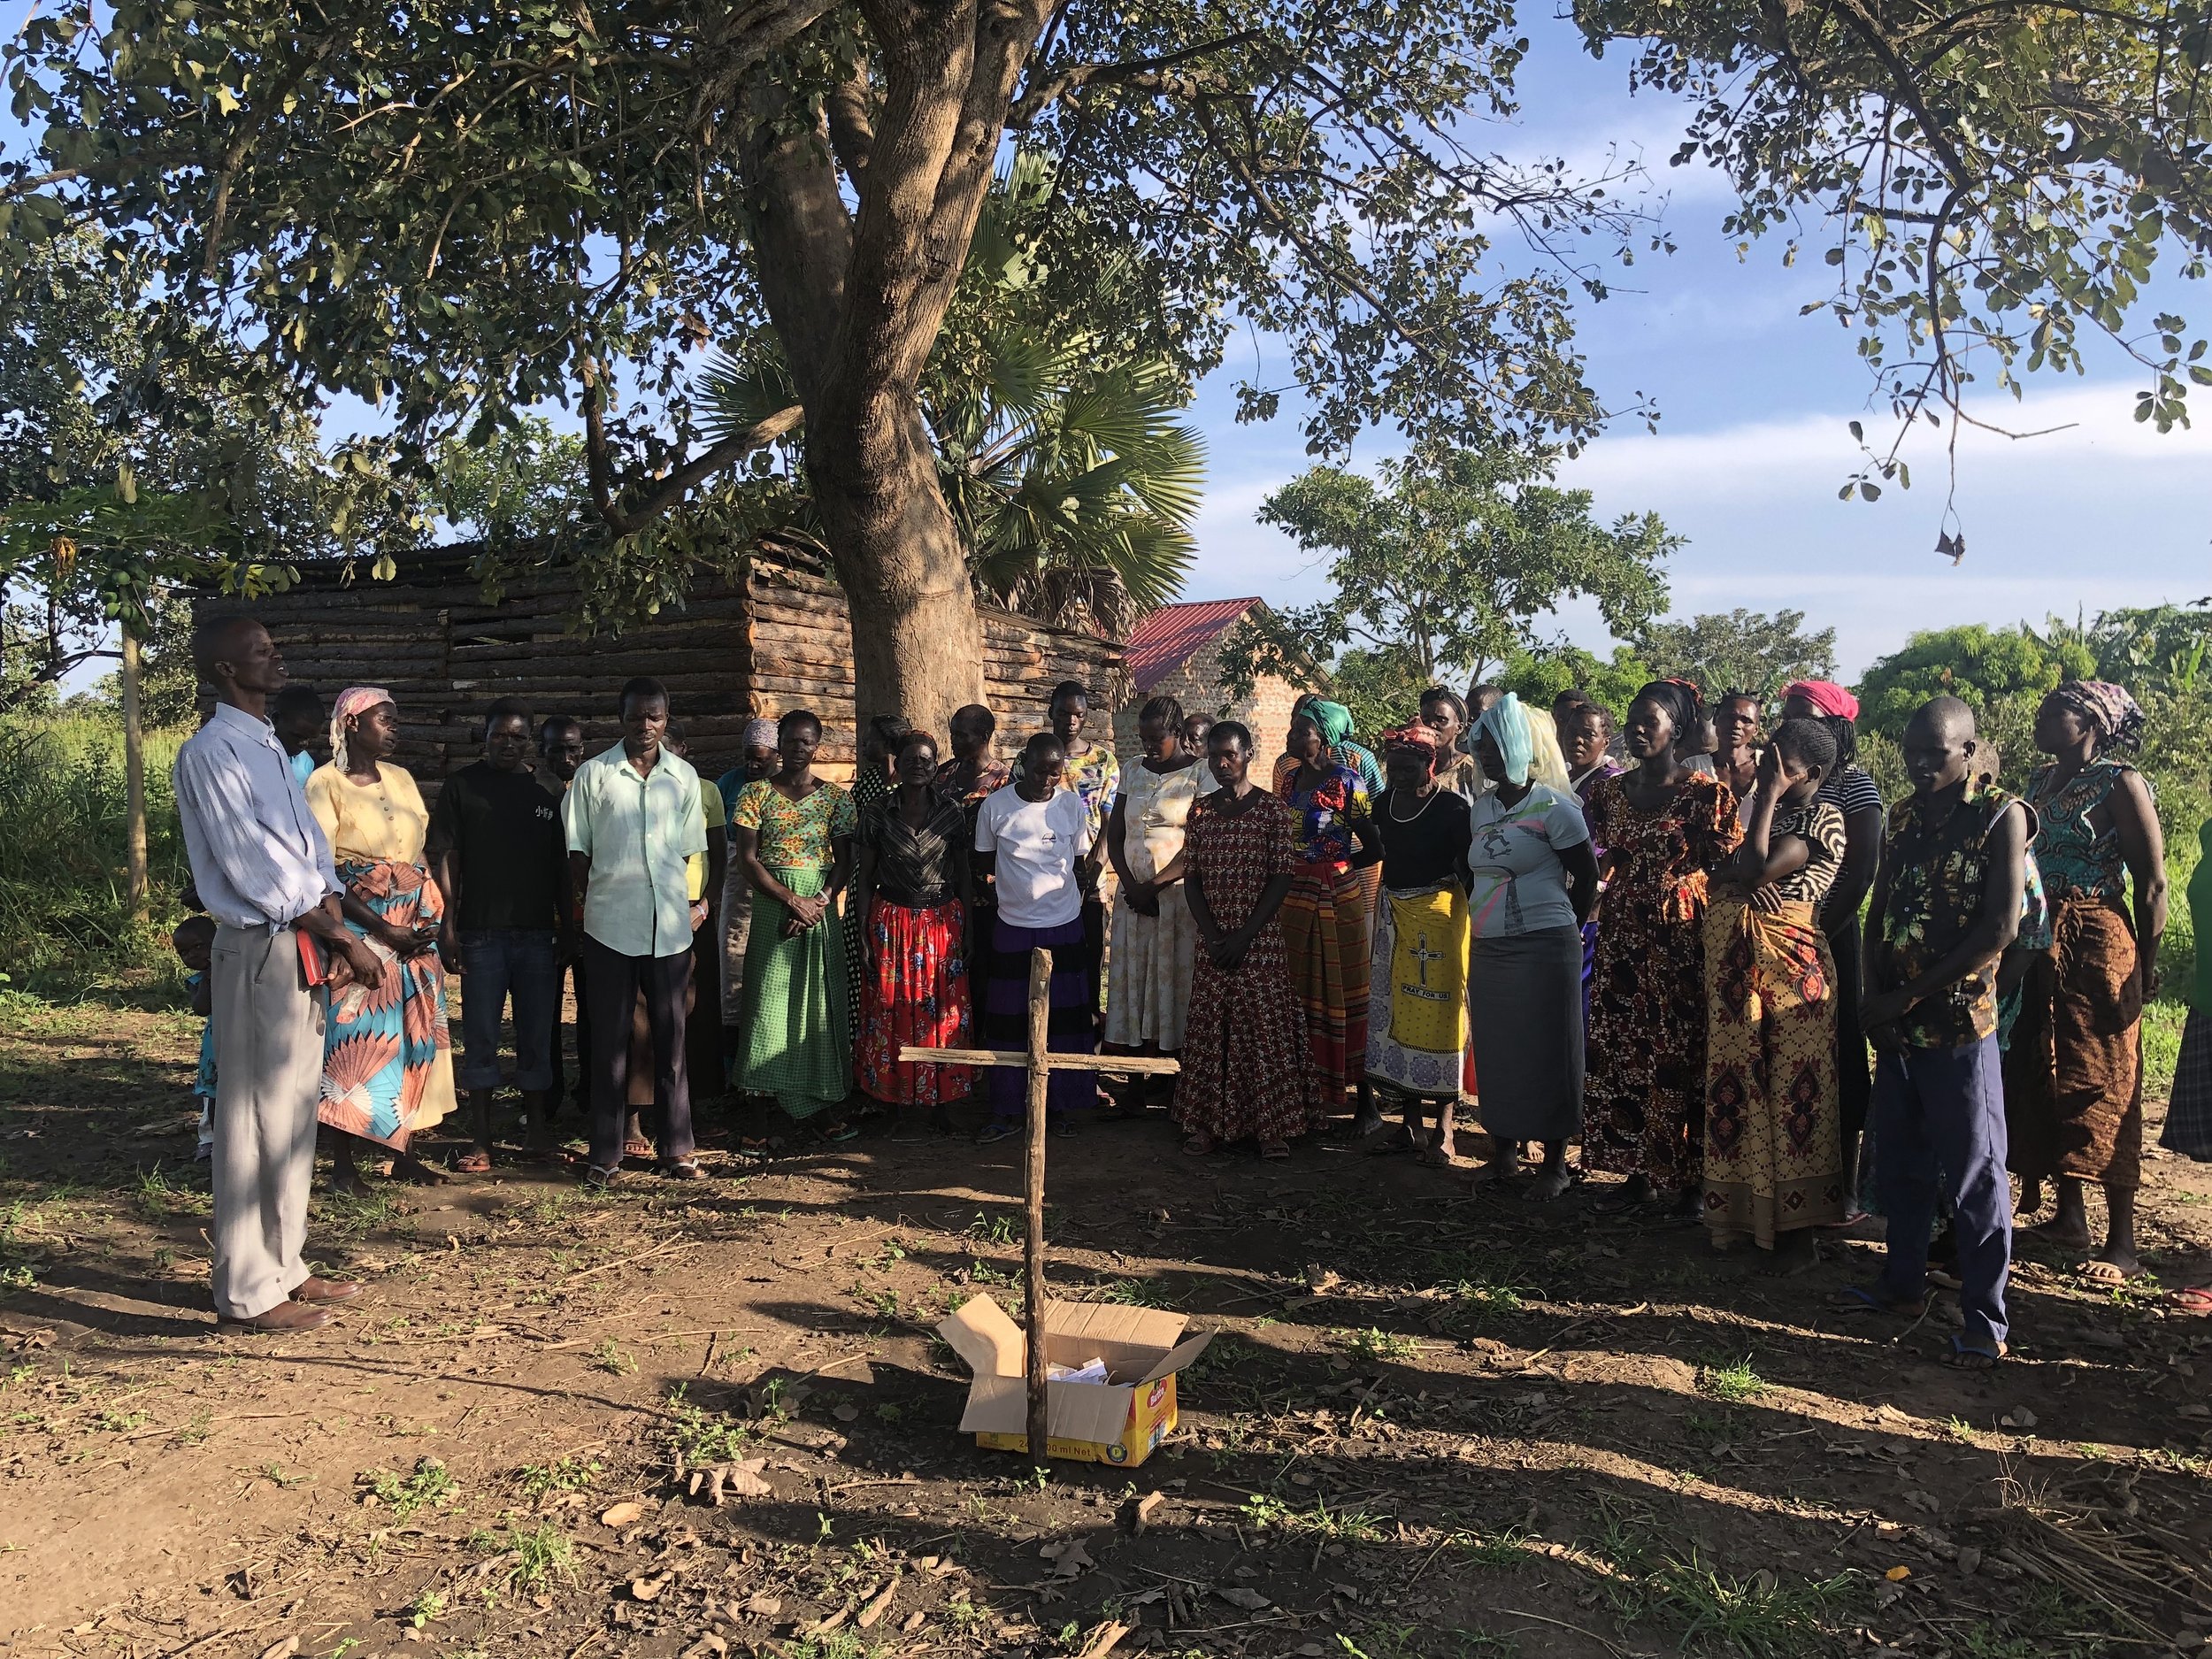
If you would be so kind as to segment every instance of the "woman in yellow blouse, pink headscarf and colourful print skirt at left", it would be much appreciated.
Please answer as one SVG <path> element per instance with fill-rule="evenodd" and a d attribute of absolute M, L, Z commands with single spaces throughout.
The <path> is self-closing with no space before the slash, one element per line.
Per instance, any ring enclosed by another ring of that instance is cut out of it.
<path fill-rule="evenodd" d="M 307 779 L 307 810 L 345 885 L 345 925 L 398 960 L 380 989 L 352 984 L 330 1000 L 319 1117 L 338 1130 L 338 1192 L 363 1190 L 356 1137 L 389 1146 L 394 1175 L 445 1179 L 407 1150 L 416 1130 L 453 1110 L 453 1040 L 438 964 L 445 896 L 422 863 L 429 812 L 414 779 L 385 761 L 396 748 L 392 692 L 354 686 L 332 708 L 330 765 Z"/>

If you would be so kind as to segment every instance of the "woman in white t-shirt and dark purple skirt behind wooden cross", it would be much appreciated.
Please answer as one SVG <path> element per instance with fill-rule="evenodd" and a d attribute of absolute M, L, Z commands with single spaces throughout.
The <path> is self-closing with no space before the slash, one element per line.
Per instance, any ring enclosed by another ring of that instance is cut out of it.
<path fill-rule="evenodd" d="M 984 982 L 975 1022 L 987 1048 L 1029 1044 L 1029 953 L 1053 953 L 1053 1013 L 1048 1046 L 1055 1053 L 1097 1053 L 1091 978 L 1084 962 L 1084 891 L 1077 867 L 1091 852 L 1091 810 L 1064 790 L 1068 752 L 1051 732 L 1037 732 L 1022 750 L 1015 783 L 995 790 L 975 812 L 973 880 L 998 894 L 991 933 L 991 978 Z M 991 1068 L 991 1121 L 978 1144 L 1002 1141 L 1022 1128 L 1029 1079 L 1009 1066 Z M 1073 1135 L 1066 1117 L 1097 1104 L 1097 1082 L 1084 1071 L 1055 1071 L 1046 1108 L 1060 1133 Z"/>

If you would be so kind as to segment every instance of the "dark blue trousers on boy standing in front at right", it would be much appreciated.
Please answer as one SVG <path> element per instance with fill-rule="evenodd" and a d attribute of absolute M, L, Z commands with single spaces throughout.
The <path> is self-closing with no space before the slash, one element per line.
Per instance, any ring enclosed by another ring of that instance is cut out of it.
<path fill-rule="evenodd" d="M 2013 1183 L 2004 1175 L 1997 1040 L 1966 1048 L 1878 1048 L 1871 1108 L 1874 1179 L 1889 1217 L 1880 1294 L 1918 1301 L 1927 1292 L 1936 1199 L 1949 1197 L 1966 1340 L 2002 1343 Z"/>

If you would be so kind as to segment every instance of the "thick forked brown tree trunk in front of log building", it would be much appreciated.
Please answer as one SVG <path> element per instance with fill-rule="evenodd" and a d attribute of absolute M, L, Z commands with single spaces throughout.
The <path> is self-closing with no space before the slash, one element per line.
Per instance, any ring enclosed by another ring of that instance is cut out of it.
<path fill-rule="evenodd" d="M 967 261 L 1006 102 L 1048 0 L 860 0 L 880 113 L 761 119 L 745 166 L 761 299 L 807 411 L 807 484 L 852 611 L 858 719 L 938 732 L 982 701 L 982 622 L 920 380 Z M 757 115 L 781 97 L 763 91 Z M 845 179 L 838 177 L 838 161 Z M 847 208 L 847 181 L 856 206 Z"/>

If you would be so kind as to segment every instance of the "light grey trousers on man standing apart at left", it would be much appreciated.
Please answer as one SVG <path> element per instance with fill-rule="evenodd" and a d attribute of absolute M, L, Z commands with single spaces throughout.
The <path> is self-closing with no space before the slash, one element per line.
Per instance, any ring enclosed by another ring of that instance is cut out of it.
<path fill-rule="evenodd" d="M 215 929 L 215 1312 L 254 1318 L 307 1279 L 323 993 L 292 929 Z"/>

